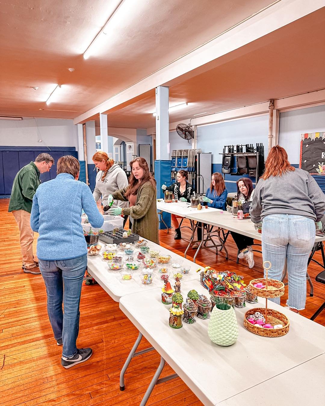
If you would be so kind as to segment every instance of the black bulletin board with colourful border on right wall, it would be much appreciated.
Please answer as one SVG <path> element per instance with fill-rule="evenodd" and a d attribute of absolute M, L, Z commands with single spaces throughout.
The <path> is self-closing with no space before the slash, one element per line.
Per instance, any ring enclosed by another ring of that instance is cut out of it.
<path fill-rule="evenodd" d="M 325 175 L 325 132 L 301 134 L 299 168 L 311 175 Z"/>

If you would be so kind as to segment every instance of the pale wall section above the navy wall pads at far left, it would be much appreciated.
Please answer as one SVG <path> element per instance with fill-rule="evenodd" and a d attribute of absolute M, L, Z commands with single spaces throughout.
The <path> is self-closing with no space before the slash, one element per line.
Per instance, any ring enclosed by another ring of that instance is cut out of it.
<path fill-rule="evenodd" d="M 76 147 L 77 126 L 73 120 L 26 118 L 0 120 L 0 145 L 15 147 Z M 44 143 L 40 143 L 39 139 Z"/>

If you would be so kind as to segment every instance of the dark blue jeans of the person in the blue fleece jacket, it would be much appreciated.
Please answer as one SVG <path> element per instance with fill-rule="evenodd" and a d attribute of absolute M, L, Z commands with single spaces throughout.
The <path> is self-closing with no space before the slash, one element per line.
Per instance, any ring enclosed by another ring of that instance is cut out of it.
<path fill-rule="evenodd" d="M 82 279 L 87 267 L 87 254 L 74 259 L 43 261 L 39 269 L 43 276 L 48 296 L 48 317 L 56 340 L 63 341 L 62 356 L 77 353 L 76 341 L 79 333 L 79 303 Z M 64 306 L 64 313 L 62 310 Z"/>

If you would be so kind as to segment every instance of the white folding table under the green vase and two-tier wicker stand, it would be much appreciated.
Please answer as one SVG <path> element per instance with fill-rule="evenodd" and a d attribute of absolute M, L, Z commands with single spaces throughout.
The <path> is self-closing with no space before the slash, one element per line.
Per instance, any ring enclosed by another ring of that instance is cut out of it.
<path fill-rule="evenodd" d="M 189 281 L 181 285 L 184 300 L 191 289 L 196 289 L 199 294 L 208 295 L 199 281 Z M 280 310 L 289 318 L 288 334 L 283 337 L 267 338 L 250 333 L 243 326 L 243 317 L 247 309 L 258 306 L 264 307 L 265 300 L 260 299 L 260 303 L 255 305 L 248 303 L 243 309 L 236 308 L 238 340 L 230 347 L 221 347 L 212 343 L 208 337 L 209 320 L 197 319 L 195 324 L 183 323 L 183 327 L 178 330 L 169 327 L 169 306 L 161 302 L 160 289 L 150 289 L 145 294 L 123 296 L 119 307 L 139 330 L 139 337 L 126 364 L 130 363 L 132 353 L 136 351 L 142 335 L 161 357 L 160 365 L 143 397 L 141 406 L 146 404 L 156 384 L 175 378 L 177 375 L 205 406 L 211 406 L 325 353 L 324 326 L 288 308 L 279 307 L 271 301 L 268 302 L 269 307 Z M 159 376 L 165 361 L 176 374 L 160 380 Z M 124 366 L 120 375 L 123 386 L 125 371 Z M 309 376 L 310 380 L 313 378 L 313 375 L 306 376 Z M 297 383 L 295 380 L 290 380 L 286 384 L 295 388 L 296 391 L 306 390 L 301 386 L 301 380 Z M 317 404 L 313 402 L 317 397 L 310 391 L 308 393 L 309 404 Z M 282 396 L 282 392 L 277 391 L 275 387 L 273 393 L 269 391 L 268 395 L 273 397 L 273 404 L 275 404 L 277 396 Z M 263 404 L 263 402 L 257 404 Z"/>

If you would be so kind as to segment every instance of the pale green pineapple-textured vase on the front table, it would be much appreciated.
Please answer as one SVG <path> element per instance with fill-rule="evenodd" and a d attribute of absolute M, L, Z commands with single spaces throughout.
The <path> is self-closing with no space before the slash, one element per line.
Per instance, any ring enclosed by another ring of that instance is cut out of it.
<path fill-rule="evenodd" d="M 218 346 L 231 346 L 238 338 L 238 324 L 234 308 L 220 310 L 212 309 L 208 325 L 208 336 Z"/>

